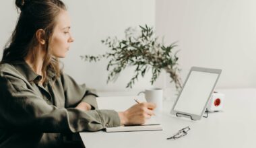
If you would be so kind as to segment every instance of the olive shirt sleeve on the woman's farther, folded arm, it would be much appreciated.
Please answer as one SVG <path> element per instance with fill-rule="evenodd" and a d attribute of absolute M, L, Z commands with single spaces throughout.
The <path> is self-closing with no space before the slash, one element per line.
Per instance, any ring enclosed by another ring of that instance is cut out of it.
<path fill-rule="evenodd" d="M 67 108 L 75 107 L 79 102 L 90 104 L 92 109 L 98 108 L 96 102 L 97 95 L 93 89 L 86 87 L 85 84 L 78 85 L 72 77 L 64 73 L 61 75 L 61 82 L 63 83 Z"/>

